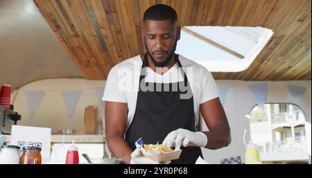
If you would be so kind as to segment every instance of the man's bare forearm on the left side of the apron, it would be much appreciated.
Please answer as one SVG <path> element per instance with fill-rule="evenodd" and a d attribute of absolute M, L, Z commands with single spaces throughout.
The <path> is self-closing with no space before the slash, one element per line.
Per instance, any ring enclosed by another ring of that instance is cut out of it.
<path fill-rule="evenodd" d="M 123 163 L 130 163 L 132 150 L 121 136 L 107 137 L 107 145 L 114 157 L 122 159 Z"/>

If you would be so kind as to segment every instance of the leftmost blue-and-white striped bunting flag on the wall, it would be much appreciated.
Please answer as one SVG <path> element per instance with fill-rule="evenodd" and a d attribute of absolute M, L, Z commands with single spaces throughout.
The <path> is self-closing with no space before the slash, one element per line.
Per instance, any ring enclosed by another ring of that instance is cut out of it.
<path fill-rule="evenodd" d="M 33 118 L 37 107 L 40 105 L 44 92 L 42 91 L 25 91 L 28 112 L 30 119 Z"/>

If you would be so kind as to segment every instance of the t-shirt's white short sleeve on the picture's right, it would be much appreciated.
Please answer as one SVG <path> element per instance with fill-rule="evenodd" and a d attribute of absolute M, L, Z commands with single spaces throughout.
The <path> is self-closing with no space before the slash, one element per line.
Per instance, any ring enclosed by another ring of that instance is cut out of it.
<path fill-rule="evenodd" d="M 214 77 L 205 67 L 202 67 L 200 104 L 218 97 L 219 92 Z"/>

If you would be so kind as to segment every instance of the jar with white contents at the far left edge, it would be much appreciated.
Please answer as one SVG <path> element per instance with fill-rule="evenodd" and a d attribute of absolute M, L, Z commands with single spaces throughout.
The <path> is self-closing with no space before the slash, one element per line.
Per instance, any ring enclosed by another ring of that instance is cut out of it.
<path fill-rule="evenodd" d="M 2 145 L 0 148 L 0 163 L 18 164 L 19 147 L 16 145 Z"/>

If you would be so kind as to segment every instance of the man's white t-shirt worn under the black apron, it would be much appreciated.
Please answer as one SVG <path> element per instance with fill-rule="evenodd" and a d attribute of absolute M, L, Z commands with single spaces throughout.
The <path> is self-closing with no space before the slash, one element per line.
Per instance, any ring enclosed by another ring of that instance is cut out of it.
<path fill-rule="evenodd" d="M 182 55 L 179 55 L 179 60 L 187 75 L 187 80 L 189 80 L 189 84 L 191 85 L 195 124 L 197 125 L 200 114 L 200 104 L 218 98 L 218 87 L 216 86 L 216 82 L 211 73 L 204 66 L 201 66 L 192 60 L 188 60 Z M 116 66 L 110 70 L 103 94 L 102 100 L 104 101 L 128 103 L 127 129 L 135 115 L 142 63 L 140 55 L 137 55 L 116 64 Z M 181 82 L 183 81 L 183 76 L 184 75 L 182 75 L 178 64 L 175 63 L 175 65 L 166 71 L 164 75 L 159 75 L 152 69 L 148 68 L 146 70 L 144 82 Z"/>

